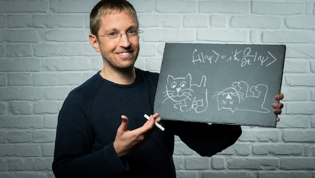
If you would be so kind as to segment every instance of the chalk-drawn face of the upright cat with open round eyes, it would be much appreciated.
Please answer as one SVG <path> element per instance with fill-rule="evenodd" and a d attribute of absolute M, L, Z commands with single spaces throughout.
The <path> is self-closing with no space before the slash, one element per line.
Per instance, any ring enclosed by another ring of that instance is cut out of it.
<path fill-rule="evenodd" d="M 191 76 L 188 73 L 186 77 L 174 78 L 171 75 L 167 77 L 166 97 L 173 101 L 183 101 L 191 95 Z M 190 99 L 190 98 L 189 98 Z"/>

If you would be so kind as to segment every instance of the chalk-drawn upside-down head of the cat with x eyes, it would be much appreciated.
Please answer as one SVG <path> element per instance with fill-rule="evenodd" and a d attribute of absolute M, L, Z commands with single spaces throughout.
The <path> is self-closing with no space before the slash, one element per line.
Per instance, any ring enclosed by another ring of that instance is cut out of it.
<path fill-rule="evenodd" d="M 232 87 L 226 88 L 223 91 L 216 92 L 215 95 L 218 103 L 218 110 L 224 108 L 230 109 L 232 112 L 237 109 L 240 103 L 240 99 L 242 98 L 242 93 L 236 91 Z"/>

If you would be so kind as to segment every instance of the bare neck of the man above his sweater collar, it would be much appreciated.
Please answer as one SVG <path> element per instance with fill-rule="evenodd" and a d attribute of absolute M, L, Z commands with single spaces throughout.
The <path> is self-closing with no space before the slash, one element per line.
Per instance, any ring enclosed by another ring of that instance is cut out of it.
<path fill-rule="evenodd" d="M 105 67 L 99 72 L 106 80 L 117 84 L 131 84 L 135 80 L 135 68 L 123 70 L 108 70 Z"/>

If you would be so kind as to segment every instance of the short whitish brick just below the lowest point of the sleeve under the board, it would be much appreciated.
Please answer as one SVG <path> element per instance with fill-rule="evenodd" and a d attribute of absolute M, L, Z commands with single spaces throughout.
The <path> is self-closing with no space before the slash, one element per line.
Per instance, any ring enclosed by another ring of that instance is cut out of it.
<path fill-rule="evenodd" d="M 196 169 L 208 169 L 209 168 L 209 158 L 208 157 L 186 157 L 185 158 L 185 168 L 187 170 Z"/>

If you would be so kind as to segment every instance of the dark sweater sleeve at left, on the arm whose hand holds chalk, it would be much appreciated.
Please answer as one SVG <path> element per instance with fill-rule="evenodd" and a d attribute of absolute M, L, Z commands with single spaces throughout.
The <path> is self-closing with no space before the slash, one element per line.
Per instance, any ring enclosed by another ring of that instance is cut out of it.
<path fill-rule="evenodd" d="M 91 150 L 93 134 L 86 118 L 88 100 L 82 100 L 86 100 L 83 94 L 70 92 L 60 109 L 52 163 L 55 177 L 111 177 L 128 169 L 113 143 Z"/>

